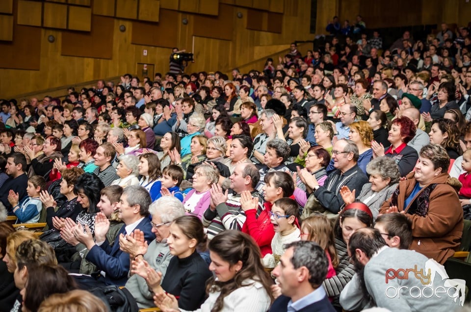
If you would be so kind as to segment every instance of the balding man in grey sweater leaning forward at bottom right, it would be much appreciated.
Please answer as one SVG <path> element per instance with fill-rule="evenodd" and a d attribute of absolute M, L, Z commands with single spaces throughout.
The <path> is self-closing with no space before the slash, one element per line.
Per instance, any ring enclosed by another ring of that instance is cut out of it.
<path fill-rule="evenodd" d="M 359 272 L 357 287 L 364 300 L 357 307 L 343 302 L 346 310 L 361 310 L 371 302 L 390 311 L 426 311 L 430 307 L 455 311 L 459 306 L 459 294 L 451 287 L 459 284 L 448 279 L 443 267 L 420 253 L 388 247 L 376 229 L 354 232 L 348 241 L 348 254 Z M 464 288 L 464 284 L 458 286 L 463 293 Z"/>

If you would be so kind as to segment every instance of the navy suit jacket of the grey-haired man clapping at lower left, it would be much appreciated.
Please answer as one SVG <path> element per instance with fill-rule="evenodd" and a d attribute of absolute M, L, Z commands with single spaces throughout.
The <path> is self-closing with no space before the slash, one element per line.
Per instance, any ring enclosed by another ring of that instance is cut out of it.
<path fill-rule="evenodd" d="M 126 225 L 119 230 L 114 244 L 111 247 L 107 240 L 101 245 L 90 249 L 85 259 L 94 263 L 99 270 L 104 271 L 106 285 L 124 286 L 128 280 L 129 254 L 119 249 L 119 234 L 125 233 Z M 135 229 L 144 232 L 144 239 L 150 243 L 156 236 L 152 233 L 152 224 L 148 217 L 144 217 Z M 130 233 L 128 233 L 130 234 Z"/>

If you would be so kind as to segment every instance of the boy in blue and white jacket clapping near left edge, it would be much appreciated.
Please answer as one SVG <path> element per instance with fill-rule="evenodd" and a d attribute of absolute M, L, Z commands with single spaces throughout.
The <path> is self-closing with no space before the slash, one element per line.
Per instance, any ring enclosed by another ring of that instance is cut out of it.
<path fill-rule="evenodd" d="M 21 200 L 18 193 L 10 189 L 8 193 L 8 202 L 13 207 L 13 213 L 17 216 L 17 223 L 36 223 L 39 222 L 43 204 L 39 199 L 41 191 L 46 190 L 46 181 L 41 176 L 32 176 L 28 179 L 25 196 Z"/>

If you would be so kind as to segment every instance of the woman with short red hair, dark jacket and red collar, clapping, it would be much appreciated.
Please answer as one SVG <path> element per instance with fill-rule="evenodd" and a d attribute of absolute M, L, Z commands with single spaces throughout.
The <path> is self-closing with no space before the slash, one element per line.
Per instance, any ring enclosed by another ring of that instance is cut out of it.
<path fill-rule="evenodd" d="M 394 119 L 388 136 L 391 146 L 385 151 L 382 145 L 372 141 L 373 158 L 391 157 L 399 166 L 401 177 L 405 177 L 414 169 L 418 158 L 417 151 L 407 145 L 415 135 L 416 126 L 411 119 L 405 116 Z"/>

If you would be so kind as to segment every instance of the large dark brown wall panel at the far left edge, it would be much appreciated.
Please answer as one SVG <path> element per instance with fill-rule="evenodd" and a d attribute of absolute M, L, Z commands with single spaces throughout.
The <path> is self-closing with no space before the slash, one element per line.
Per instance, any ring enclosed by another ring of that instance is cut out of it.
<path fill-rule="evenodd" d="M 41 28 L 21 25 L 13 27 L 15 40 L 11 43 L 0 42 L 0 68 L 39 70 Z M 2 76 L 0 80 L 8 79 Z"/>

